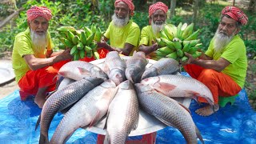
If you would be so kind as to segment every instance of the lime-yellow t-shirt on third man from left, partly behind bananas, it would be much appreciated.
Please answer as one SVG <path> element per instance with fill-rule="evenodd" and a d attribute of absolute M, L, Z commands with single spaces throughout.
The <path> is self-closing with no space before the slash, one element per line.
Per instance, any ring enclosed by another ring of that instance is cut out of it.
<path fill-rule="evenodd" d="M 156 38 L 160 38 L 159 34 L 154 34 L 152 26 L 145 26 L 142 28 L 141 40 L 138 46 L 152 46 L 152 41 L 156 42 Z M 155 51 L 148 54 L 151 59 L 155 59 Z"/>

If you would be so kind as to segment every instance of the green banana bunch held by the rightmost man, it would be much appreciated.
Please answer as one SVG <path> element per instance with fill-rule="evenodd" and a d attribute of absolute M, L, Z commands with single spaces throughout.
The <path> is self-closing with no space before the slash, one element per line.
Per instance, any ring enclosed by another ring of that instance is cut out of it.
<path fill-rule="evenodd" d="M 167 24 L 160 31 L 160 38 L 157 38 L 158 50 L 156 51 L 157 59 L 173 58 L 178 62 L 186 62 L 188 58 L 184 54 L 192 54 L 194 58 L 198 58 L 202 53 L 197 51 L 198 46 L 202 46 L 200 40 L 197 39 L 199 30 L 193 32 L 194 23 L 188 25 L 180 22 L 178 26 Z"/>

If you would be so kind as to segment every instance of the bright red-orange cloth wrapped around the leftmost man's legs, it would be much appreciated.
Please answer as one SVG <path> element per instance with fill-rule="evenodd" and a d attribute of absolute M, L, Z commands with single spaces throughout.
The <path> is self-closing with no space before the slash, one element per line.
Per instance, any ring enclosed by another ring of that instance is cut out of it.
<path fill-rule="evenodd" d="M 26 100 L 29 95 L 35 95 L 38 89 L 48 86 L 46 92 L 55 90 L 55 84 L 57 82 L 58 70 L 69 60 L 57 62 L 53 66 L 46 66 L 38 70 L 29 70 L 19 80 L 18 86 L 20 90 L 20 97 L 22 100 Z"/>

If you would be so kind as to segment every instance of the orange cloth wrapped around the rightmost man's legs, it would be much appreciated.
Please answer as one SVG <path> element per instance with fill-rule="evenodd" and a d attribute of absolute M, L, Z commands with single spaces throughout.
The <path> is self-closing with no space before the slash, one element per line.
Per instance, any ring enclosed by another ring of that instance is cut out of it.
<path fill-rule="evenodd" d="M 226 74 L 194 64 L 186 65 L 184 69 L 192 78 L 197 79 L 209 88 L 214 97 L 214 104 L 218 104 L 218 96 L 234 96 L 241 90 L 241 87 Z M 198 98 L 198 101 L 207 103 L 206 99 L 201 97 Z"/>

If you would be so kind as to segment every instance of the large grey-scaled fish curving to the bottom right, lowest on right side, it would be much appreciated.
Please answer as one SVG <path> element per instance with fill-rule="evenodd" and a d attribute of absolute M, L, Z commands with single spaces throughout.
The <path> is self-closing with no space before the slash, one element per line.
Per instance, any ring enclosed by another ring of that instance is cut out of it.
<path fill-rule="evenodd" d="M 167 126 L 177 128 L 184 138 L 186 143 L 198 143 L 197 138 L 203 143 L 202 136 L 195 126 L 194 121 L 188 112 L 177 101 L 172 98 L 159 94 L 156 90 L 142 83 L 135 84 L 138 94 L 139 105 L 147 113 L 158 118 L 159 121 Z"/>

